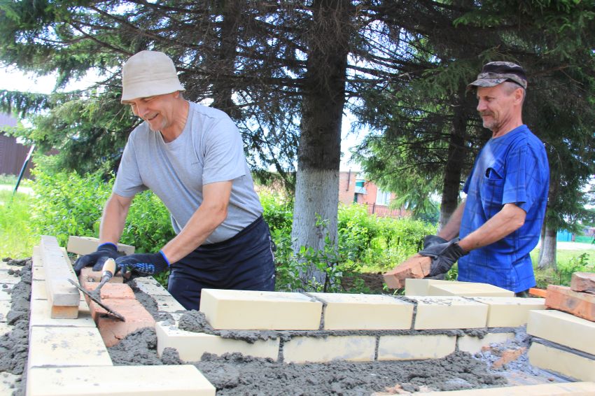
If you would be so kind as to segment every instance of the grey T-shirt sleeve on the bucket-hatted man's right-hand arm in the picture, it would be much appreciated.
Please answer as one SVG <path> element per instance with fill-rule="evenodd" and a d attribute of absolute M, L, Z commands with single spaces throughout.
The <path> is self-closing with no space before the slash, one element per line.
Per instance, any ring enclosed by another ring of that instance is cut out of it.
<path fill-rule="evenodd" d="M 205 135 L 202 184 L 231 181 L 245 174 L 241 135 L 230 118 L 221 118 Z"/>

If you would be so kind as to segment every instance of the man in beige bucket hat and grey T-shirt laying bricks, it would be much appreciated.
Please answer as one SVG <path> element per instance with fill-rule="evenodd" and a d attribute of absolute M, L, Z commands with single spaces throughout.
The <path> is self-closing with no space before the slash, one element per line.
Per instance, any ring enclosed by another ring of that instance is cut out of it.
<path fill-rule="evenodd" d="M 274 257 L 241 136 L 223 111 L 184 99 L 174 62 L 141 51 L 122 70 L 122 103 L 144 120 L 128 138 L 99 230 L 97 251 L 76 271 L 108 257 L 123 271 L 171 271 L 168 289 L 186 309 L 202 288 L 274 290 Z M 118 257 L 132 198 L 152 190 L 167 206 L 176 237 L 158 253 Z"/>

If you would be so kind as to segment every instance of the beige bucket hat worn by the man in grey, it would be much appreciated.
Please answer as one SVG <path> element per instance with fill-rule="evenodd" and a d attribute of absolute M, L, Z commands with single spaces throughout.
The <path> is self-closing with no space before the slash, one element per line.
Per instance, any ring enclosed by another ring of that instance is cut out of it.
<path fill-rule="evenodd" d="M 138 52 L 132 55 L 122 67 L 120 101 L 184 90 L 178 79 L 174 62 L 163 52 Z"/>

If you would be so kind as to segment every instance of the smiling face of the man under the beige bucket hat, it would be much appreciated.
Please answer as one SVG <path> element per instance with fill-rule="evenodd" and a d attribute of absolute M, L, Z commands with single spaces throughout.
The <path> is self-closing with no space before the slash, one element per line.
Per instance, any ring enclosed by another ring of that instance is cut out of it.
<path fill-rule="evenodd" d="M 179 92 L 172 92 L 171 94 L 131 99 L 123 101 L 123 104 L 130 105 L 132 113 L 145 120 L 153 132 L 167 132 L 175 125 L 179 94 Z"/>

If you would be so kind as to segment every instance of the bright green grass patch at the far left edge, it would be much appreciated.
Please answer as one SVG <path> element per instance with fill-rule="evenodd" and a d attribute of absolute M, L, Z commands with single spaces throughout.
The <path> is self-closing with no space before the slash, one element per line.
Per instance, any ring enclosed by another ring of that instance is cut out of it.
<path fill-rule="evenodd" d="M 29 229 L 34 198 L 22 192 L 0 190 L 0 258 L 31 257 L 39 236 Z"/>

